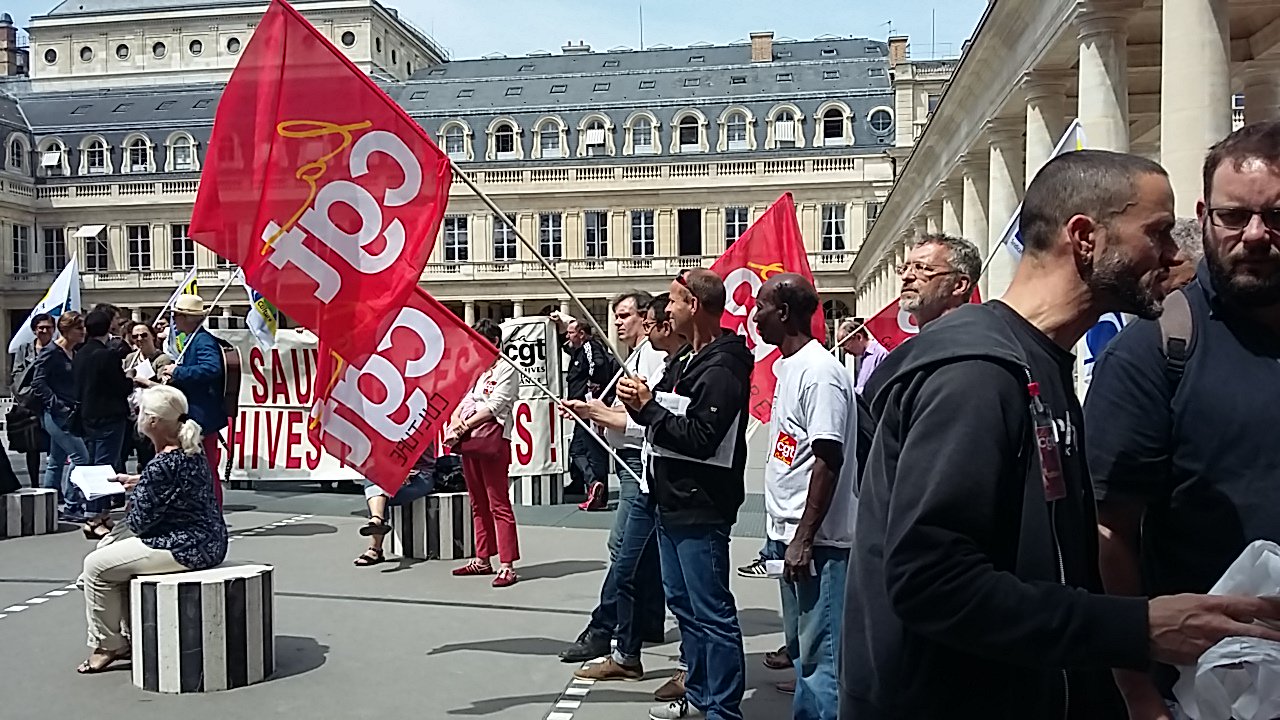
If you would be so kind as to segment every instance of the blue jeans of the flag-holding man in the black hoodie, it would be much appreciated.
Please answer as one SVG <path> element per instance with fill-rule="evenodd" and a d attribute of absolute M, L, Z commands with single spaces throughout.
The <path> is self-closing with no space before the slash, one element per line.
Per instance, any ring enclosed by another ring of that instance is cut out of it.
<path fill-rule="evenodd" d="M 689 665 L 685 697 L 708 720 L 742 720 L 746 657 L 728 587 L 730 525 L 671 525 L 658 518 L 667 603 L 680 621 Z"/>

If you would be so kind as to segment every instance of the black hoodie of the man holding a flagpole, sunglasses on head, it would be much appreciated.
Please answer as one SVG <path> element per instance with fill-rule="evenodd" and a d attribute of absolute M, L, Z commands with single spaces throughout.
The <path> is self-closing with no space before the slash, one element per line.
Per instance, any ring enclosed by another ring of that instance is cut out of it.
<path fill-rule="evenodd" d="M 646 428 L 652 445 L 687 457 L 652 460 L 649 486 L 662 521 L 732 525 L 745 495 L 746 410 L 755 360 L 746 342 L 730 331 L 690 352 L 675 354 L 657 386 L 689 398 L 685 415 L 650 401 L 631 416 Z M 730 465 L 708 462 L 731 432 Z"/>

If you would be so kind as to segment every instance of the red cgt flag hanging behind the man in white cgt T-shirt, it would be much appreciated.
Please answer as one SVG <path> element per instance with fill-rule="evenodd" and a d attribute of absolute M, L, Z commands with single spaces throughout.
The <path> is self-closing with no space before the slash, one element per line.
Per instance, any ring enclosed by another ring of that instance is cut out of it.
<path fill-rule="evenodd" d="M 746 338 L 746 346 L 755 354 L 751 373 L 751 416 L 768 423 L 773 413 L 773 388 L 777 375 L 773 363 L 782 356 L 776 346 L 760 340 L 755 329 L 755 293 L 769 275 L 799 273 L 813 281 L 809 256 L 804 250 L 800 223 L 791 193 L 783 193 L 760 219 L 742 233 L 712 265 L 712 272 L 724 279 L 728 301 L 721 324 Z M 813 316 L 813 336 L 827 341 L 827 323 L 822 307 Z"/>

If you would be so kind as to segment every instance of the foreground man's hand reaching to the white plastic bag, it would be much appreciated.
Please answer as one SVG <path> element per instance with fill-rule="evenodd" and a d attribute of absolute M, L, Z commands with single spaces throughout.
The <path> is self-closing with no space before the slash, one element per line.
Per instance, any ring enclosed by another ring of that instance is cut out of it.
<path fill-rule="evenodd" d="M 1151 657 L 1169 665 L 1194 665 L 1222 638 L 1280 642 L 1280 630 L 1254 620 L 1280 621 L 1280 600 L 1239 596 L 1175 594 L 1147 603 Z"/>

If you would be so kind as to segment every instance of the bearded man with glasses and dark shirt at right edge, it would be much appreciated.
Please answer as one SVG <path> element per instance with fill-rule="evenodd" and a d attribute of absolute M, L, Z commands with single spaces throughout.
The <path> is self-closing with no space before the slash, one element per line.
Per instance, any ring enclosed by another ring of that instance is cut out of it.
<path fill-rule="evenodd" d="M 1207 592 L 1251 541 L 1280 541 L 1280 123 L 1210 150 L 1196 211 L 1196 279 L 1158 323 L 1111 342 L 1085 404 L 1102 579 L 1117 594 Z M 1171 667 L 1116 679 L 1135 720 L 1172 717 Z"/>

